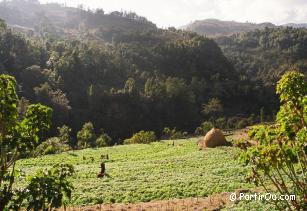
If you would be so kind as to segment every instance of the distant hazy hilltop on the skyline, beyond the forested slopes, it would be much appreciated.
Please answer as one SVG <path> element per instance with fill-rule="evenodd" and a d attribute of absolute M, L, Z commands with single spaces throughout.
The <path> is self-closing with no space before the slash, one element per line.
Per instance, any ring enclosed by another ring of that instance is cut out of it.
<path fill-rule="evenodd" d="M 221 36 L 221 35 L 232 35 L 240 32 L 249 32 L 256 29 L 264 29 L 265 27 L 275 28 L 272 23 L 241 23 L 236 21 L 221 21 L 217 19 L 205 19 L 201 21 L 194 21 L 186 26 L 181 27 L 182 29 L 196 32 L 200 35 L 205 36 Z"/>

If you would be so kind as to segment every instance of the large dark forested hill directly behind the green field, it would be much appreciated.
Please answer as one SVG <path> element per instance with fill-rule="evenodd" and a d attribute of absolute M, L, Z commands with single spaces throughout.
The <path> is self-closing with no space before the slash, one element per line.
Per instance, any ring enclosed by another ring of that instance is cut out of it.
<path fill-rule="evenodd" d="M 140 130 L 194 132 L 213 117 L 203 104 L 218 102 L 212 115 L 232 117 L 266 102 L 211 39 L 174 28 L 119 31 L 111 43 L 92 36 L 19 34 L 1 23 L 0 73 L 17 78 L 20 112 L 29 101 L 53 108 L 50 135 L 63 124 L 76 134 L 89 121 L 114 142 Z"/>

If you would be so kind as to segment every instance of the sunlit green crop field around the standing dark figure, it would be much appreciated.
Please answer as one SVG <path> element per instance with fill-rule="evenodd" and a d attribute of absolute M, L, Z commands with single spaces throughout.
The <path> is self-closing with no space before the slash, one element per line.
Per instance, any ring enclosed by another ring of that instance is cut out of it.
<path fill-rule="evenodd" d="M 163 141 L 70 151 L 18 162 L 26 174 L 56 163 L 75 166 L 73 205 L 206 197 L 214 193 L 252 189 L 244 180 L 246 168 L 234 158 L 238 149 L 220 147 L 199 151 L 197 139 Z M 108 154 L 108 177 L 98 179 L 100 156 Z M 94 158 L 94 161 L 90 159 Z M 23 181 L 20 180 L 19 185 Z"/>

